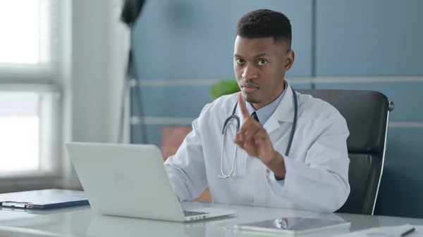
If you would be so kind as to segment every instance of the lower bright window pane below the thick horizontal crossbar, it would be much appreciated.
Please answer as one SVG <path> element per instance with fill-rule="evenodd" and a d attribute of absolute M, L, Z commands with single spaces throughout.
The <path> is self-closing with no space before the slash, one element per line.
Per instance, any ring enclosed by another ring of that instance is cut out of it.
<path fill-rule="evenodd" d="M 38 105 L 37 93 L 0 93 L 1 173 L 39 169 Z"/>

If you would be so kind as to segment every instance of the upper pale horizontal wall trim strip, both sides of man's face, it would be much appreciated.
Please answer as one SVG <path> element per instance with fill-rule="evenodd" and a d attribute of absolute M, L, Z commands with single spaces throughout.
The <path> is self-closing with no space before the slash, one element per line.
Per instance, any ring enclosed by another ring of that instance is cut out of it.
<path fill-rule="evenodd" d="M 131 80 L 131 87 L 201 87 L 212 86 L 221 81 L 219 78 L 198 79 L 141 79 Z M 423 82 L 422 76 L 416 77 L 293 77 L 288 79 L 291 84 L 306 83 L 373 83 L 373 82 Z"/>

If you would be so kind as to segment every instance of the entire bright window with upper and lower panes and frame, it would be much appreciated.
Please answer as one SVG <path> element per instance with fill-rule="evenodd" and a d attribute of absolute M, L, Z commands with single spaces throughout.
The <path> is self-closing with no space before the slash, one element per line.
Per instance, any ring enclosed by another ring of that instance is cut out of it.
<path fill-rule="evenodd" d="M 0 178 L 58 170 L 60 3 L 0 0 Z"/>

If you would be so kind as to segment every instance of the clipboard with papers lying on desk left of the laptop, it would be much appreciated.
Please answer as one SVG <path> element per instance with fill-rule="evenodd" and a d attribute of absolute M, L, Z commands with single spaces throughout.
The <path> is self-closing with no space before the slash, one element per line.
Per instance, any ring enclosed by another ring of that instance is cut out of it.
<path fill-rule="evenodd" d="M 0 207 L 48 210 L 62 207 L 90 205 L 87 196 L 80 193 L 53 193 L 39 197 L 18 198 L 18 200 L 0 200 Z"/>

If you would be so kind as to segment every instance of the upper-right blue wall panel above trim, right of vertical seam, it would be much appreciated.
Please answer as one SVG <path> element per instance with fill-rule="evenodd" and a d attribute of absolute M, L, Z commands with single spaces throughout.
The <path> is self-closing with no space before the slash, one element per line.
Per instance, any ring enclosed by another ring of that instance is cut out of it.
<path fill-rule="evenodd" d="M 316 1 L 317 76 L 423 75 L 423 1 Z"/>

